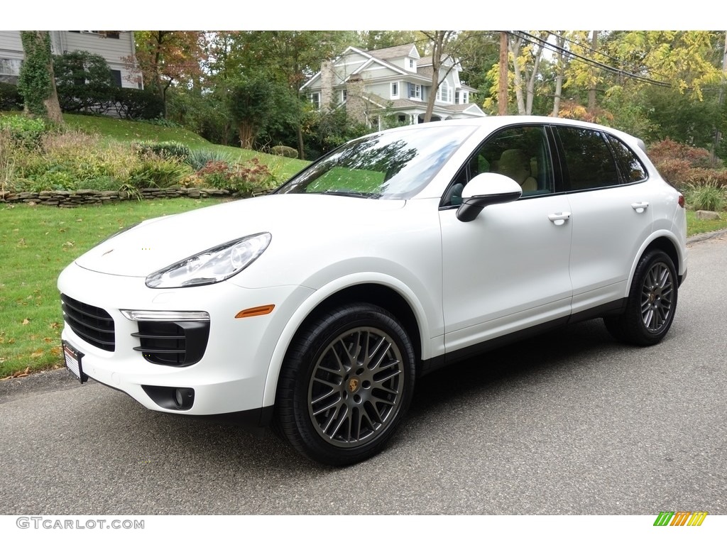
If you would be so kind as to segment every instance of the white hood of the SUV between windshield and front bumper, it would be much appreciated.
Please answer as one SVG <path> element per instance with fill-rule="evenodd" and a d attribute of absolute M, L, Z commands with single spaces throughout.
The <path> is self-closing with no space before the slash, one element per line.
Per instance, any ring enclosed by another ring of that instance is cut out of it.
<path fill-rule="evenodd" d="M 381 214 L 406 201 L 340 195 L 265 195 L 142 222 L 76 259 L 88 270 L 146 277 L 198 252 L 246 235 L 268 232 L 300 243 L 351 223 L 380 225 Z M 269 251 L 269 250 L 268 250 Z"/>

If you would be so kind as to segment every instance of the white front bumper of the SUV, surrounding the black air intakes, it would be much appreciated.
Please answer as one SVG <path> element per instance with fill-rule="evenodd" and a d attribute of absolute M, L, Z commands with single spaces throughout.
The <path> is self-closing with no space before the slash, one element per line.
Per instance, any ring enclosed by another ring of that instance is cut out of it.
<path fill-rule="evenodd" d="M 76 264 L 61 273 L 58 288 L 113 318 L 113 350 L 90 344 L 64 324 L 61 337 L 84 354 L 85 374 L 126 392 L 146 408 L 190 415 L 260 410 L 281 332 L 313 292 L 300 286 L 249 289 L 230 282 L 157 290 L 147 288 L 144 278 L 95 273 Z M 267 304 L 275 305 L 268 315 L 235 318 L 241 310 Z M 207 312 L 209 339 L 204 355 L 189 366 L 151 363 L 134 350 L 139 347 L 138 323 L 121 310 Z M 191 406 L 172 403 L 177 389 L 193 390 Z"/>

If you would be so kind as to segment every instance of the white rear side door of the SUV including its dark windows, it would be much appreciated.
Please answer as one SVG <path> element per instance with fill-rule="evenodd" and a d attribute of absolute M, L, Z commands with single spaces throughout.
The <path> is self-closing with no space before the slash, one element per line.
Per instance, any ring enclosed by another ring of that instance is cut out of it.
<path fill-rule="evenodd" d="M 653 229 L 646 169 L 605 132 L 555 126 L 572 211 L 573 312 L 621 299 L 638 250 Z"/>

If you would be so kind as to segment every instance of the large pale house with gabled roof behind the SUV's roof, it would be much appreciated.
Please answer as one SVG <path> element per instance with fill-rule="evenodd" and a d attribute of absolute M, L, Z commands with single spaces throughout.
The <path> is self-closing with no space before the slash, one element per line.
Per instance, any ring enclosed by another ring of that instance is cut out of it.
<path fill-rule="evenodd" d="M 382 126 L 384 116 L 407 124 L 422 123 L 432 92 L 432 61 L 419 56 L 414 44 L 362 51 L 348 47 L 326 61 L 301 88 L 320 109 L 345 107 L 350 117 Z M 470 102 L 476 89 L 459 81 L 459 65 L 446 57 L 432 121 L 486 114 Z"/>

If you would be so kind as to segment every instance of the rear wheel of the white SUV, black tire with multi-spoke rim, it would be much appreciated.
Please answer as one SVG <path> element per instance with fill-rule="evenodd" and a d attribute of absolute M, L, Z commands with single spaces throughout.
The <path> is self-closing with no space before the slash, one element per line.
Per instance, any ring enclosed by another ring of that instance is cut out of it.
<path fill-rule="evenodd" d="M 678 278 L 672 259 L 661 250 L 648 251 L 636 266 L 626 310 L 604 318 L 616 339 L 638 346 L 660 342 L 677 309 Z"/>

